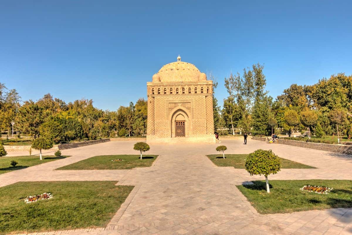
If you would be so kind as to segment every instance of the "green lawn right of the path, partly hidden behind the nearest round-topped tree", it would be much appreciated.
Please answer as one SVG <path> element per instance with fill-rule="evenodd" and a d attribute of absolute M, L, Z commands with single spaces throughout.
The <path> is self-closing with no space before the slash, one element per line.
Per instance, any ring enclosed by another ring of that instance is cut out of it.
<path fill-rule="evenodd" d="M 213 154 L 207 156 L 212 162 L 214 162 L 216 166 L 233 166 L 234 168 L 245 169 L 245 163 L 248 154 L 225 154 L 225 159 L 222 158 L 222 154 Z M 281 157 L 280 159 L 281 168 L 315 168 Z"/>

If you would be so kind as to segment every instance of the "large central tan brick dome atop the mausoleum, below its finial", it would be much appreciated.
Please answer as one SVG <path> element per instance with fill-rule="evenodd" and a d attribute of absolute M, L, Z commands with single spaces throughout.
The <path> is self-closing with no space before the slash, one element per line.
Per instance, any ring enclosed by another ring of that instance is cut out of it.
<path fill-rule="evenodd" d="M 174 82 L 199 81 L 201 73 L 193 64 L 177 61 L 164 65 L 156 74 L 161 82 Z"/>

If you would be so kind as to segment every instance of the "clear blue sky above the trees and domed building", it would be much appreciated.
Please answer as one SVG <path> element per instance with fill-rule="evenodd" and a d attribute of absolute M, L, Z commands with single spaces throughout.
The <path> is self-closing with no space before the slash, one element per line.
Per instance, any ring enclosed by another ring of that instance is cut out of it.
<path fill-rule="evenodd" d="M 219 82 L 264 64 L 269 94 L 352 74 L 352 1 L 0 0 L 0 82 L 22 100 L 46 93 L 100 109 L 146 98 L 167 63 Z"/>

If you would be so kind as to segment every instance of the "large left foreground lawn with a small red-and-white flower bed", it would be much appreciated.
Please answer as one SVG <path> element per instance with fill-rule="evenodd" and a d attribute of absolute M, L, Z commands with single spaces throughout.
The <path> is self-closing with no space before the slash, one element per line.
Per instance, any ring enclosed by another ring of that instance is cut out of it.
<path fill-rule="evenodd" d="M 105 227 L 134 186 L 113 181 L 19 182 L 0 190 L 0 234 Z M 51 199 L 24 202 L 50 192 Z"/>

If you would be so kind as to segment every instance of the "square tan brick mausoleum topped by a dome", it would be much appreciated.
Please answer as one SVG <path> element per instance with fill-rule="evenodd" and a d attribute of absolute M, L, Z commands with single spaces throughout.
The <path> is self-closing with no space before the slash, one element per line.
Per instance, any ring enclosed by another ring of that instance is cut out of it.
<path fill-rule="evenodd" d="M 213 81 L 193 64 L 164 65 L 147 82 L 148 143 L 215 143 Z"/>

